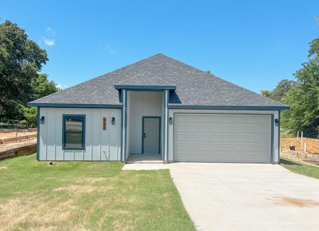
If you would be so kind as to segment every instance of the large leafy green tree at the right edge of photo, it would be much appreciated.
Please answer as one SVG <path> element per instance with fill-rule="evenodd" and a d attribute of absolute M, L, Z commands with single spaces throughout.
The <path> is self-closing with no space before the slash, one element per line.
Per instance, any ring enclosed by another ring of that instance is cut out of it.
<path fill-rule="evenodd" d="M 291 135 L 304 131 L 306 137 L 319 138 L 319 42 L 310 42 L 308 62 L 294 74 L 298 86 L 283 98 L 291 109 L 283 112 L 282 126 Z"/>

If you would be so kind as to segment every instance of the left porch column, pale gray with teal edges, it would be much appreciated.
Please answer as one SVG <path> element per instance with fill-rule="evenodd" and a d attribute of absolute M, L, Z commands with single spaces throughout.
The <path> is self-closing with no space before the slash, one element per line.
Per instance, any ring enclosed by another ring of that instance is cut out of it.
<path fill-rule="evenodd" d="M 127 159 L 127 115 L 128 115 L 128 107 L 127 107 L 127 101 L 128 101 L 128 92 L 127 89 L 122 90 L 122 155 L 121 155 L 121 161 L 125 162 Z"/>

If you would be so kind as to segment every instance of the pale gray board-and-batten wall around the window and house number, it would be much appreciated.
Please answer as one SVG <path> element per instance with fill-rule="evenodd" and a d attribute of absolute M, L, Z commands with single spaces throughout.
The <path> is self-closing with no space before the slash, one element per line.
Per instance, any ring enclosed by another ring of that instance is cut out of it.
<path fill-rule="evenodd" d="M 62 149 L 63 114 L 85 115 L 85 149 Z M 119 161 L 121 160 L 121 109 L 40 108 L 39 160 Z M 103 117 L 107 128 L 103 130 Z M 115 125 L 111 124 L 115 117 Z M 105 152 L 104 152 L 105 151 Z"/>

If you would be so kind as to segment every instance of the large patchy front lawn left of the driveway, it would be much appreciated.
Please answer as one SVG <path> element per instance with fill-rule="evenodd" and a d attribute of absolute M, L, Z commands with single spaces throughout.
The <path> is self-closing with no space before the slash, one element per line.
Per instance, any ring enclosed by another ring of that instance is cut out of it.
<path fill-rule="evenodd" d="M 0 230 L 194 231 L 168 170 L 119 162 L 0 161 Z"/>

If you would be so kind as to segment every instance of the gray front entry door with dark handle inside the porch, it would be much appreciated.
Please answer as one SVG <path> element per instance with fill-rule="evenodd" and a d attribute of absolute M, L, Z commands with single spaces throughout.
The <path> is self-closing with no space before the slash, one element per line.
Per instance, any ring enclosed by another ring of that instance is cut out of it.
<path fill-rule="evenodd" d="M 160 153 L 160 117 L 143 117 L 142 153 Z"/>

